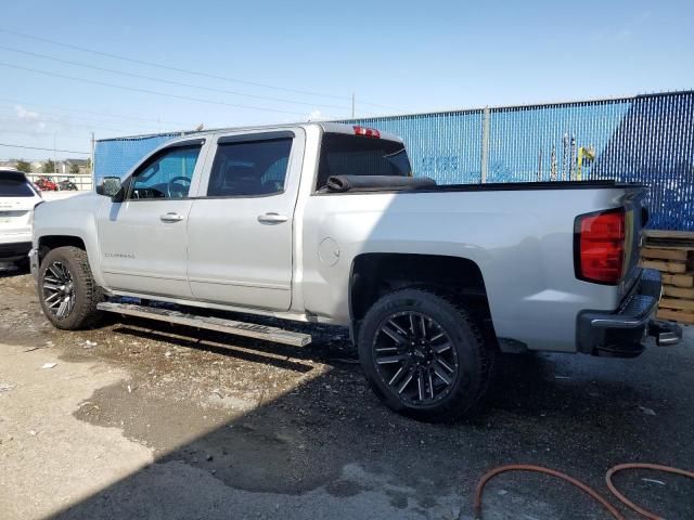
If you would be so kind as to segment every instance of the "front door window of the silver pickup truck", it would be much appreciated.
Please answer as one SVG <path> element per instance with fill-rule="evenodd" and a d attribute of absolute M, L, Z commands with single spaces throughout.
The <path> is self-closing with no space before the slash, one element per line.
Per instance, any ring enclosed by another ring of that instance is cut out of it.
<path fill-rule="evenodd" d="M 188 197 L 201 148 L 202 145 L 177 146 L 156 154 L 133 174 L 128 198 Z"/>

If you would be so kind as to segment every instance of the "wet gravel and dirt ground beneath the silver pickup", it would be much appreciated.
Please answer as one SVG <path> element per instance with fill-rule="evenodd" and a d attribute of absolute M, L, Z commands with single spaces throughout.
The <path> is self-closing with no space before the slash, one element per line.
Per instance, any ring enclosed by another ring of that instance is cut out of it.
<path fill-rule="evenodd" d="M 9 269 L 0 312 L 3 518 L 468 519 L 497 465 L 549 466 L 604 494 L 615 464 L 694 469 L 691 327 L 635 360 L 502 358 L 480 415 L 426 425 L 380 404 L 340 329 L 292 324 L 313 335 L 301 349 L 125 318 L 65 333 Z M 694 518 L 690 481 L 634 471 L 617 483 L 664 517 Z M 527 473 L 491 482 L 485 511 L 607 518 Z"/>

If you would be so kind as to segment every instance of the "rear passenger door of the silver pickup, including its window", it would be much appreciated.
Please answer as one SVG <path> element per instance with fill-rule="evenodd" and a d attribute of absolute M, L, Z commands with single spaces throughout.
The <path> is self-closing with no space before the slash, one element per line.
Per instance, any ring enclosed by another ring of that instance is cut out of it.
<path fill-rule="evenodd" d="M 220 136 L 188 222 L 195 299 L 285 311 L 305 132 Z"/>

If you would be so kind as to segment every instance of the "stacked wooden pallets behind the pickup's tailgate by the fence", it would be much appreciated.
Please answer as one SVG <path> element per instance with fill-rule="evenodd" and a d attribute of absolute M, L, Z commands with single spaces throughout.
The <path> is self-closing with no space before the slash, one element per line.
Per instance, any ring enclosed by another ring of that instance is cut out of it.
<path fill-rule="evenodd" d="M 694 324 L 694 232 L 646 231 L 641 257 L 663 273 L 658 317 Z"/>

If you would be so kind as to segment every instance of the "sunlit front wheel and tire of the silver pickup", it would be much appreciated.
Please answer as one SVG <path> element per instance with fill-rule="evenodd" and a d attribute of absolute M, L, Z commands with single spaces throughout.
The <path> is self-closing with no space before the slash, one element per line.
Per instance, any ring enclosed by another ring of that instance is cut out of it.
<path fill-rule="evenodd" d="M 103 292 L 94 283 L 83 249 L 57 247 L 46 255 L 39 268 L 38 291 L 43 313 L 56 328 L 80 330 L 102 317 L 97 304 Z"/>

